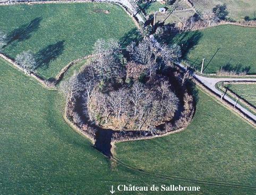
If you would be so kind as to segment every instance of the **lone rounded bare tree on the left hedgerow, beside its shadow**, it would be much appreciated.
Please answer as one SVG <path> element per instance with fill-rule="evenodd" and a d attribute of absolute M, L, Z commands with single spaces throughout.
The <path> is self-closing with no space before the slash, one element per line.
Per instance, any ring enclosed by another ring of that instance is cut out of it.
<path fill-rule="evenodd" d="M 16 55 L 15 63 L 17 63 L 25 72 L 30 74 L 30 71 L 35 70 L 37 67 L 36 59 L 30 50 L 24 51 L 21 54 Z"/>

